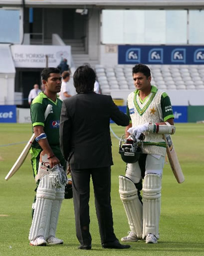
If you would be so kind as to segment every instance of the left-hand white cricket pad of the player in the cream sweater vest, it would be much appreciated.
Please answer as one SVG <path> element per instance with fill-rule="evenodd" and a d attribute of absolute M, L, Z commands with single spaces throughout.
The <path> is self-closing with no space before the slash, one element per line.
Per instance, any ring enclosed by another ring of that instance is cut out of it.
<path fill-rule="evenodd" d="M 138 238 L 142 237 L 142 203 L 133 181 L 123 175 L 119 176 L 119 193 L 123 202 L 128 223 Z"/>

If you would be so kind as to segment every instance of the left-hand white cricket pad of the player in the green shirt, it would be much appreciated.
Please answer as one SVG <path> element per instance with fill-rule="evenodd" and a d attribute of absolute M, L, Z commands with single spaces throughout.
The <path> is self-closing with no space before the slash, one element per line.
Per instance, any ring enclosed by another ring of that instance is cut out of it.
<path fill-rule="evenodd" d="M 35 240 L 37 236 L 48 238 L 52 201 L 55 199 L 56 188 L 49 181 L 49 175 L 40 179 L 37 187 L 35 210 L 28 239 Z"/>

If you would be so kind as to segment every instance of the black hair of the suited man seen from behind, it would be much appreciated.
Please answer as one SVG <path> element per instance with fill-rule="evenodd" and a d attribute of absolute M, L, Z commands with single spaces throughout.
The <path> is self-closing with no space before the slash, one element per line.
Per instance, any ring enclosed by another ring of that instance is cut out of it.
<path fill-rule="evenodd" d="M 84 63 L 82 66 L 77 67 L 73 75 L 73 80 L 77 93 L 93 91 L 96 73 L 90 64 Z"/>

